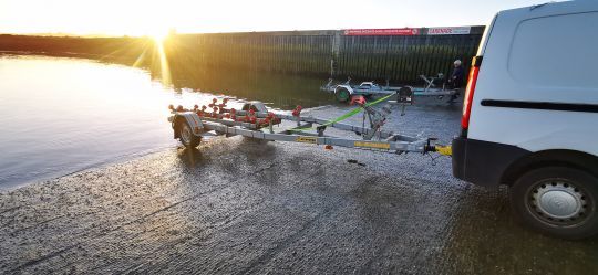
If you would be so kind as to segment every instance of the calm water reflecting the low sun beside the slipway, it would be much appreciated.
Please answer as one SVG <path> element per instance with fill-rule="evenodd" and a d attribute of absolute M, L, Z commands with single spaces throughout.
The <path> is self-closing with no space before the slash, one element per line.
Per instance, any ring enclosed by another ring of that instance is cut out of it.
<path fill-rule="evenodd" d="M 0 189 L 174 147 L 166 106 L 207 104 L 212 91 L 283 109 L 330 102 L 320 80 L 194 71 L 173 75 L 171 87 L 152 75 L 90 60 L 0 55 Z"/>

